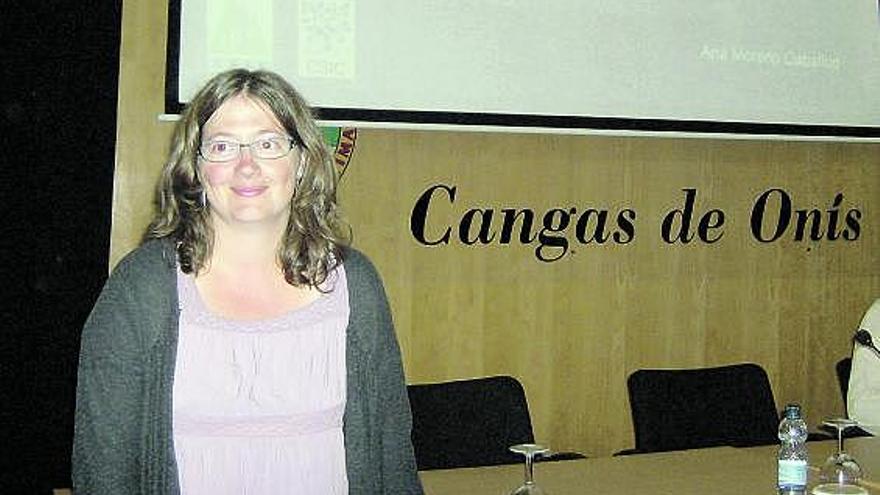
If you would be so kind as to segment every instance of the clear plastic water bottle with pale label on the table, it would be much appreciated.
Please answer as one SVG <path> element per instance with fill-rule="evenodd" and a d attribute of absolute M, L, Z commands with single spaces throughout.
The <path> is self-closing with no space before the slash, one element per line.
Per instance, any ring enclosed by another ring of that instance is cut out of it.
<path fill-rule="evenodd" d="M 807 491 L 807 423 L 801 406 L 788 404 L 779 422 L 779 455 L 776 487 L 779 495 L 803 495 Z"/>

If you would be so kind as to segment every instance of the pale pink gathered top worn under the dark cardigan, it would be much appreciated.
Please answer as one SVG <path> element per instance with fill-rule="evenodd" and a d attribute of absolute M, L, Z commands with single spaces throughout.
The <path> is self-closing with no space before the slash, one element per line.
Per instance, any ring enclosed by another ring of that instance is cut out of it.
<path fill-rule="evenodd" d="M 211 313 L 178 271 L 174 450 L 181 493 L 348 493 L 342 416 L 345 271 L 277 318 Z"/>

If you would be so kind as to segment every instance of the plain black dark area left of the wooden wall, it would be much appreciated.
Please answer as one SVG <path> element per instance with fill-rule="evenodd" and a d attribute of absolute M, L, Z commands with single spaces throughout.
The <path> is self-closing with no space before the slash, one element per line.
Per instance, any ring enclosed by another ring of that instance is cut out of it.
<path fill-rule="evenodd" d="M 70 486 L 79 334 L 107 275 L 121 1 L 0 15 L 0 491 Z"/>

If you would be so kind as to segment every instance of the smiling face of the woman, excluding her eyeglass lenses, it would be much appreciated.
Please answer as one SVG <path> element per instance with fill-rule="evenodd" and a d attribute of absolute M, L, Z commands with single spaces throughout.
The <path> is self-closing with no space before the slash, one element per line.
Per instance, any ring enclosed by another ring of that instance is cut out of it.
<path fill-rule="evenodd" d="M 218 141 L 250 144 L 275 137 L 286 138 L 287 132 L 269 107 L 240 94 L 214 112 L 202 127 L 201 139 L 210 146 Z M 218 146 L 228 148 L 222 143 Z M 242 146 L 230 161 L 200 158 L 214 224 L 283 229 L 290 215 L 299 158 L 297 148 L 280 158 L 258 158 L 249 146 Z"/>

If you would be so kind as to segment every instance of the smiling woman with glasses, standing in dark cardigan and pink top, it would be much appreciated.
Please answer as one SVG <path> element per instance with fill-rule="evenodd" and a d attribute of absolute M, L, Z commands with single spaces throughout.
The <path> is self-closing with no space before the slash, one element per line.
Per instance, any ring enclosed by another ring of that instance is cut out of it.
<path fill-rule="evenodd" d="M 388 303 L 335 190 L 278 75 L 198 92 L 83 330 L 76 493 L 421 493 Z"/>

